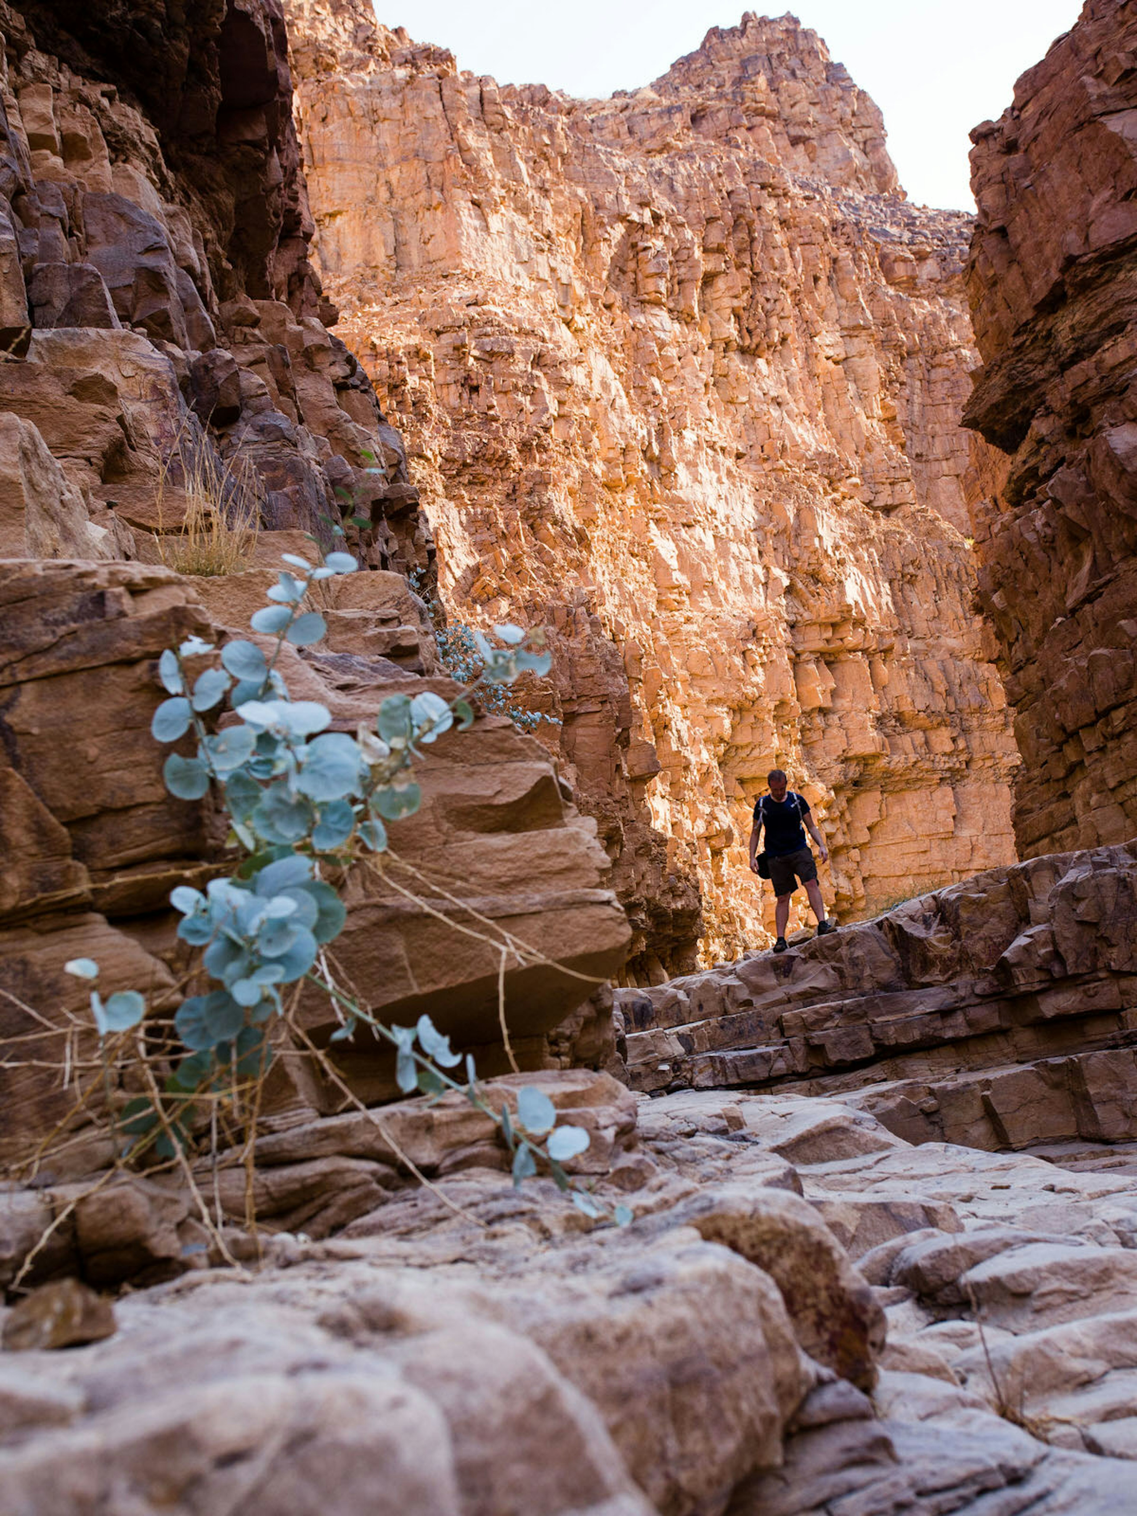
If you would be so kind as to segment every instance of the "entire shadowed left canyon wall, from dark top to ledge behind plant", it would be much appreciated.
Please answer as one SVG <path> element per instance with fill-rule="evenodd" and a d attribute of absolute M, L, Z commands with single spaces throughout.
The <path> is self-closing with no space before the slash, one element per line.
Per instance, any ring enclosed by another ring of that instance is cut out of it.
<path fill-rule="evenodd" d="M 156 1011 L 177 1004 L 190 964 L 170 890 L 236 864 L 214 800 L 164 784 L 150 732 L 162 649 L 247 637 L 280 552 L 311 553 L 312 537 L 330 546 L 350 514 L 365 572 L 317 587 L 327 640 L 282 650 L 294 697 L 355 732 L 384 696 L 458 688 L 438 676 L 405 578 L 417 570 L 429 587 L 432 544 L 402 441 L 324 327 L 335 312 L 308 261 L 279 5 L 0 3 L 0 32 L 8 1160 L 73 1108 L 58 1076 L 71 1038 L 96 1057 L 86 991 L 64 964 L 89 955 L 105 990 L 149 991 Z M 208 537 L 238 497 L 259 518 L 255 544 L 235 532 L 241 555 L 176 572 L 186 520 Z M 488 1066 L 503 1057 L 503 985 L 518 1058 L 540 1064 L 544 1034 L 626 952 L 596 825 L 544 749 L 500 716 L 447 732 L 421 787 L 418 814 L 394 823 L 402 864 L 352 879 L 349 972 L 385 1016 L 429 1010 L 464 1043 L 493 1043 Z M 544 961 L 471 943 L 447 923 L 455 908 L 476 911 L 491 938 L 508 920 Z M 311 1026 L 330 1035 L 326 1007 Z M 590 1035 L 581 1013 L 552 1057 L 579 1061 Z M 600 1038 L 594 1061 L 605 1054 Z M 393 1088 L 382 1058 L 352 1049 L 349 1063 L 359 1088 Z M 318 1105 L 303 1082 L 280 1104 Z M 68 1163 L 89 1158 L 76 1142 Z"/>

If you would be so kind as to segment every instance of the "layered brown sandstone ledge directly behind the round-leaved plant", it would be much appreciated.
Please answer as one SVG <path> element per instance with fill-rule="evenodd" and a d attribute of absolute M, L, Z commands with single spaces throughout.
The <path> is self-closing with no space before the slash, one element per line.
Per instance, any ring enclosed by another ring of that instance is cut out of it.
<path fill-rule="evenodd" d="M 229 872 L 235 860 L 226 860 L 227 823 L 209 800 L 165 790 L 167 749 L 150 735 L 164 694 L 156 661 L 191 635 L 247 635 L 273 578 L 249 570 L 194 582 L 138 564 L 0 562 L 5 1163 L 32 1155 L 59 1122 L 73 1134 L 65 1169 L 80 1172 L 91 1143 L 109 1151 L 106 1131 L 91 1126 L 105 1114 L 100 1081 L 88 1102 L 59 1075 L 70 1064 L 89 1070 L 97 1052 L 86 988 L 64 972 L 68 960 L 94 958 L 103 991 L 139 990 L 155 1010 L 180 999 L 173 990 L 191 963 L 174 937 L 170 890 Z M 352 576 L 326 615 L 332 650 L 290 649 L 279 666 L 293 697 L 326 705 L 334 728 L 370 725 L 384 696 L 408 688 L 456 693 L 449 679 L 423 678 L 432 649 L 421 628 L 406 625 L 415 602 L 397 575 Z M 362 650 L 335 650 L 343 625 Z M 418 673 L 368 650 L 391 652 L 393 634 Z M 420 638 L 412 652 L 408 637 Z M 603 888 L 594 823 L 565 799 L 544 749 L 503 717 L 446 734 L 417 778 L 423 807 L 393 823 L 394 857 L 346 882 L 340 972 L 384 1020 L 429 1013 L 478 1051 L 485 1072 L 503 1057 L 500 990 L 517 1057 L 540 1066 L 544 1034 L 619 972 L 628 946 L 625 914 Z M 511 938 L 535 949 L 534 960 L 511 952 Z M 321 1043 L 338 1025 L 318 996 L 300 1014 Z M 356 1096 L 397 1093 L 381 1048 L 356 1038 L 341 1054 Z M 594 1057 L 605 1055 L 600 1043 Z M 277 1090 L 273 1107 L 311 1111 L 340 1099 L 309 1075 Z"/>

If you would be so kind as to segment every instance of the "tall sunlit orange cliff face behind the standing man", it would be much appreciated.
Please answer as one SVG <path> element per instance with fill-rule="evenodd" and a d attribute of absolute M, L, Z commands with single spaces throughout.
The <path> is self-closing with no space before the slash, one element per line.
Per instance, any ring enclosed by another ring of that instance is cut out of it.
<path fill-rule="evenodd" d="M 970 221 L 907 203 L 825 44 L 746 15 L 578 102 L 459 73 L 362 0 L 287 15 L 324 282 L 450 605 L 619 649 L 588 699 L 558 673 L 552 740 L 635 881 L 640 970 L 690 961 L 691 879 L 705 957 L 763 940 L 773 763 L 846 917 L 1011 861 L 964 538 Z"/>

